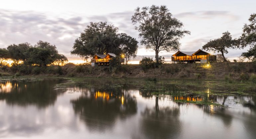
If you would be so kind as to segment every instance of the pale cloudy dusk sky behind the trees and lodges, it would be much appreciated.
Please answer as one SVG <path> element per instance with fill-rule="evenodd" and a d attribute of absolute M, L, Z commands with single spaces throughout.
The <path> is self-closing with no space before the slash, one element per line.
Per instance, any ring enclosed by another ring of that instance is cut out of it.
<path fill-rule="evenodd" d="M 256 13 L 255 0 L 1 0 L 0 1 L 0 48 L 11 44 L 39 40 L 55 44 L 59 53 L 69 62 L 82 63 L 70 51 L 74 40 L 90 22 L 107 21 L 138 41 L 139 32 L 134 29 L 131 17 L 137 7 L 166 5 L 173 17 L 184 23 L 191 35 L 183 37 L 181 51 L 201 49 L 210 39 L 229 31 L 233 38 L 242 34 L 251 14 Z M 230 49 L 226 57 L 237 59 L 248 48 Z M 169 62 L 175 52 L 160 52 Z M 210 52 L 212 53 L 212 52 Z M 155 57 L 155 52 L 139 44 L 137 64 L 142 56 Z"/>

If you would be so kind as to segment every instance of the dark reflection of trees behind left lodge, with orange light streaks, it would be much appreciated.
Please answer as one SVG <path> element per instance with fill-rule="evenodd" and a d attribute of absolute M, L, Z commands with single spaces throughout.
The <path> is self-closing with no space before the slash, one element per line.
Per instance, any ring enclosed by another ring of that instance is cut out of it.
<path fill-rule="evenodd" d="M 86 123 L 90 131 L 111 128 L 117 117 L 125 118 L 137 112 L 137 103 L 128 93 L 107 92 L 108 97 L 103 91 L 101 95 L 96 93 L 71 100 L 75 114 Z"/>

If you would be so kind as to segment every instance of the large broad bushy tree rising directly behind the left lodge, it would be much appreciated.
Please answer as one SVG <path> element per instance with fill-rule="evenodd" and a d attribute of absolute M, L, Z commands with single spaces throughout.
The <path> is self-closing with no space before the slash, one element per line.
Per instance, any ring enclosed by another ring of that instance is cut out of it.
<path fill-rule="evenodd" d="M 107 22 L 90 23 L 73 45 L 71 54 L 87 60 L 95 54 L 115 53 L 119 55 L 118 28 Z"/>

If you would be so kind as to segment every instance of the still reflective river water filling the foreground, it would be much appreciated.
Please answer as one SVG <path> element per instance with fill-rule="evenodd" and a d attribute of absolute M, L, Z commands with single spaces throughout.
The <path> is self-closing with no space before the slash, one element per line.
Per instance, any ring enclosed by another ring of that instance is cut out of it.
<path fill-rule="evenodd" d="M 156 96 L 137 85 L 110 88 L 108 81 L 97 87 L 100 80 L 71 87 L 56 87 L 63 79 L 2 81 L 0 138 L 256 138 L 254 96 L 209 96 L 225 107 L 181 104 L 173 100 L 203 98 Z"/>

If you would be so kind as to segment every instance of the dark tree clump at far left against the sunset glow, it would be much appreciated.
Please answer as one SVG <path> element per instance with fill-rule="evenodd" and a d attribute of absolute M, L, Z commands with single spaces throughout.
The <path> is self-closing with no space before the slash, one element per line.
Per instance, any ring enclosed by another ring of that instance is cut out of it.
<path fill-rule="evenodd" d="M 0 49 L 0 60 L 10 58 L 14 64 L 23 61 L 26 65 L 47 66 L 56 62 L 58 65 L 67 61 L 63 54 L 59 54 L 55 45 L 46 41 L 38 41 L 35 46 L 29 43 L 12 44 L 7 50 Z"/>

